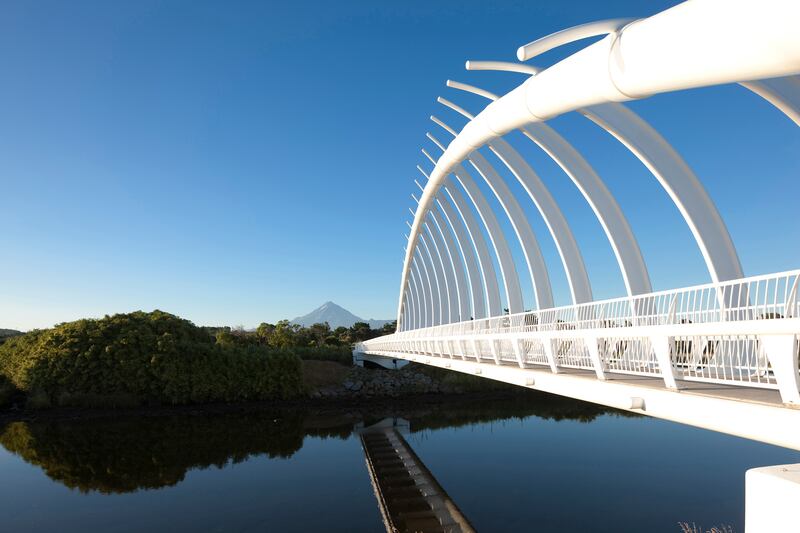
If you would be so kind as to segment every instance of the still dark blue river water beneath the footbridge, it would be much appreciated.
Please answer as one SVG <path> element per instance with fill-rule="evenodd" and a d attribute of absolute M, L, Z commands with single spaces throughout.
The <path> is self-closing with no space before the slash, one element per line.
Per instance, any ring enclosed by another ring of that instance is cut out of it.
<path fill-rule="evenodd" d="M 800 453 L 543 395 L 0 423 L 2 531 L 383 531 L 354 427 L 386 416 L 478 531 L 743 531 Z"/>

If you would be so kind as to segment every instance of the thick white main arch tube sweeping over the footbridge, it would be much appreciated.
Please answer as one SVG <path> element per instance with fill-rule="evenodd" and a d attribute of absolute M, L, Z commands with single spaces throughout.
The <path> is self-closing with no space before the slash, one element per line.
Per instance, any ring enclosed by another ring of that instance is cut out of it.
<path fill-rule="evenodd" d="M 400 311 L 422 215 L 453 167 L 522 125 L 608 102 L 800 74 L 800 2 L 684 2 L 636 21 L 559 61 L 489 104 L 447 147 L 420 198 L 398 294 Z M 669 43 L 667 46 L 665 43 Z"/>

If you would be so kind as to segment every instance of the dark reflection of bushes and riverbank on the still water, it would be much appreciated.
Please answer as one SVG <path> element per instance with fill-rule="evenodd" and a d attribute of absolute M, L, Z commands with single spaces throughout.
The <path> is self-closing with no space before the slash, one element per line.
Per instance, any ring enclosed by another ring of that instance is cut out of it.
<path fill-rule="evenodd" d="M 178 485 L 194 469 L 221 469 L 259 456 L 289 459 L 306 437 L 348 439 L 386 418 L 407 421 L 403 431 L 414 433 L 531 416 L 591 422 L 607 412 L 592 404 L 525 392 L 377 409 L 48 416 L 0 420 L 0 445 L 70 489 L 121 494 Z"/>

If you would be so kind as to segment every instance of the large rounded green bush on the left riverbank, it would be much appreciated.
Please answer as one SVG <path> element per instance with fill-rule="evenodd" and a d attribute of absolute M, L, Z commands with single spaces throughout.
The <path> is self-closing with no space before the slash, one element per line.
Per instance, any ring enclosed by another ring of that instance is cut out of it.
<path fill-rule="evenodd" d="M 0 375 L 40 407 L 286 398 L 302 391 L 299 359 L 215 343 L 161 311 L 78 320 L 0 346 Z"/>

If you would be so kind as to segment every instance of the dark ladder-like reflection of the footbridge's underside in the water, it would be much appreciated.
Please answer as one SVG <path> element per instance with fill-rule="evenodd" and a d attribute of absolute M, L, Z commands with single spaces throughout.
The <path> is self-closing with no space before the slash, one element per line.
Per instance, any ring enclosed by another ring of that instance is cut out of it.
<path fill-rule="evenodd" d="M 403 438 L 403 419 L 360 429 L 372 488 L 388 533 L 469 533 L 474 529 Z"/>

